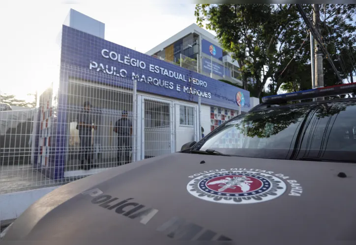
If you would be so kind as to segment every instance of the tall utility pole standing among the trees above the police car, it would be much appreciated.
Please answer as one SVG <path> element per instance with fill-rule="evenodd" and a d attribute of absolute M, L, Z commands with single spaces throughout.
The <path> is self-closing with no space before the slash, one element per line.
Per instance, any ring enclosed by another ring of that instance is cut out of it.
<path fill-rule="evenodd" d="M 313 21 L 314 27 L 321 33 L 320 29 L 320 8 L 319 4 L 313 4 L 314 12 L 313 12 Z M 319 43 L 315 40 L 314 45 L 316 47 L 315 50 L 315 85 L 316 87 L 324 86 L 324 75 L 323 75 L 323 52 L 320 48 Z"/>

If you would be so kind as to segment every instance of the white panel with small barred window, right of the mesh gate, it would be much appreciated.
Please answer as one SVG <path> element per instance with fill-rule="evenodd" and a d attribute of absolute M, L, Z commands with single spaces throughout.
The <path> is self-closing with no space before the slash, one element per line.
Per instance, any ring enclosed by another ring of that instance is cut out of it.
<path fill-rule="evenodd" d="M 189 104 L 175 104 L 176 151 L 190 141 L 197 141 L 197 107 Z M 199 132 L 199 131 L 198 131 Z"/>

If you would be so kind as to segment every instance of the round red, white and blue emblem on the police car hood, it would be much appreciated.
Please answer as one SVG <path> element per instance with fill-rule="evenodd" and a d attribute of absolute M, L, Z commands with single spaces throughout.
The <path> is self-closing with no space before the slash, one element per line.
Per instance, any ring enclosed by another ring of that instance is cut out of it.
<path fill-rule="evenodd" d="M 276 176 L 254 171 L 220 171 L 199 176 L 187 185 L 187 191 L 200 199 L 247 204 L 269 201 L 287 190 Z"/>

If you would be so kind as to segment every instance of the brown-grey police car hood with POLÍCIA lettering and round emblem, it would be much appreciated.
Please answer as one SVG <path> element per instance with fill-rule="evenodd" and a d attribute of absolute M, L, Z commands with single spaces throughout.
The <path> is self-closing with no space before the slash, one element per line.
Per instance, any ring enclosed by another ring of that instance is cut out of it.
<path fill-rule="evenodd" d="M 59 187 L 17 218 L 4 240 L 355 242 L 355 175 L 351 163 L 174 153 Z"/>

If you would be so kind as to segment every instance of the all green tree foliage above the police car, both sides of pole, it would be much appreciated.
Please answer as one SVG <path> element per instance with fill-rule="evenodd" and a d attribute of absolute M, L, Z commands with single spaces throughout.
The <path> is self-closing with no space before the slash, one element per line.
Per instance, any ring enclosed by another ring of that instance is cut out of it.
<path fill-rule="evenodd" d="M 311 4 L 302 5 L 308 14 L 312 13 Z M 325 4 L 322 36 L 335 66 L 347 78 L 356 65 L 356 5 L 334 5 Z M 281 86 L 288 92 L 311 88 L 309 31 L 295 4 L 197 4 L 195 16 L 199 26 L 207 23 L 206 27 L 216 32 L 222 48 L 237 60 L 243 88 L 251 96 L 276 94 Z M 324 77 L 325 85 L 338 83 L 326 59 Z M 248 84 L 249 78 L 256 83 Z M 265 93 L 267 81 L 271 84 Z"/>

